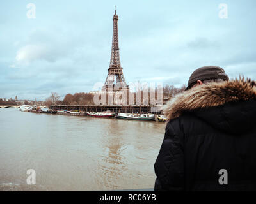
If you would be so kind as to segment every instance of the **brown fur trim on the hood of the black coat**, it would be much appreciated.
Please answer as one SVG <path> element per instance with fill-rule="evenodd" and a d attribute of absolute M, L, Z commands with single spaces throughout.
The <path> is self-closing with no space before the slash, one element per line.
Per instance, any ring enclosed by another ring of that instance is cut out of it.
<path fill-rule="evenodd" d="M 244 79 L 244 77 L 199 85 L 170 99 L 164 108 L 164 115 L 171 120 L 182 115 L 182 112 L 196 108 L 209 108 L 231 101 L 256 99 L 255 85 L 250 78 Z"/>

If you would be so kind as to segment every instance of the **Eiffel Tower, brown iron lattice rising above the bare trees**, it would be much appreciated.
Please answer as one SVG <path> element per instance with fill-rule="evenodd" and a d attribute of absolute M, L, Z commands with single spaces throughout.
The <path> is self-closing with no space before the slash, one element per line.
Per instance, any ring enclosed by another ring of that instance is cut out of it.
<path fill-rule="evenodd" d="M 108 76 L 105 84 L 102 87 L 103 92 L 108 91 L 129 91 L 129 85 L 126 84 L 123 68 L 120 63 L 119 46 L 118 46 L 118 28 L 117 28 L 118 15 L 113 16 L 113 37 L 112 37 L 112 49 L 110 65 L 108 68 Z"/>

